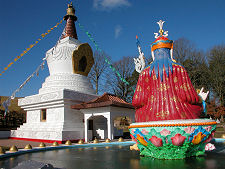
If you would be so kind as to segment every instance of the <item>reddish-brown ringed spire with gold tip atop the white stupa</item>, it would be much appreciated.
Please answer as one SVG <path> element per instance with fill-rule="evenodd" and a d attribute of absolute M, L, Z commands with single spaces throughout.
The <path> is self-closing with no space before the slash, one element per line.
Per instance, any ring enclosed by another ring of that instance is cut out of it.
<path fill-rule="evenodd" d="M 69 36 L 69 37 L 78 39 L 77 31 L 76 31 L 76 27 L 74 23 L 77 20 L 77 17 L 75 16 L 75 9 L 73 8 L 72 2 L 68 4 L 67 14 L 64 16 L 63 19 L 66 20 L 66 26 L 65 26 L 65 32 L 62 38 Z"/>

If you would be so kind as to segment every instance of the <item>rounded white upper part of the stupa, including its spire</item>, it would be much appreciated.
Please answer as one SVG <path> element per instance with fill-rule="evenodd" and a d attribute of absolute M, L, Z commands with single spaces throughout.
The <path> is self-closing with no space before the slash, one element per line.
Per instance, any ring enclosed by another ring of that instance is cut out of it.
<path fill-rule="evenodd" d="M 87 43 L 77 38 L 74 21 L 75 10 L 71 6 L 64 17 L 65 32 L 56 46 L 46 52 L 50 76 L 45 79 L 39 94 L 69 89 L 87 94 L 95 91 L 87 77 L 94 64 L 93 52 Z"/>

